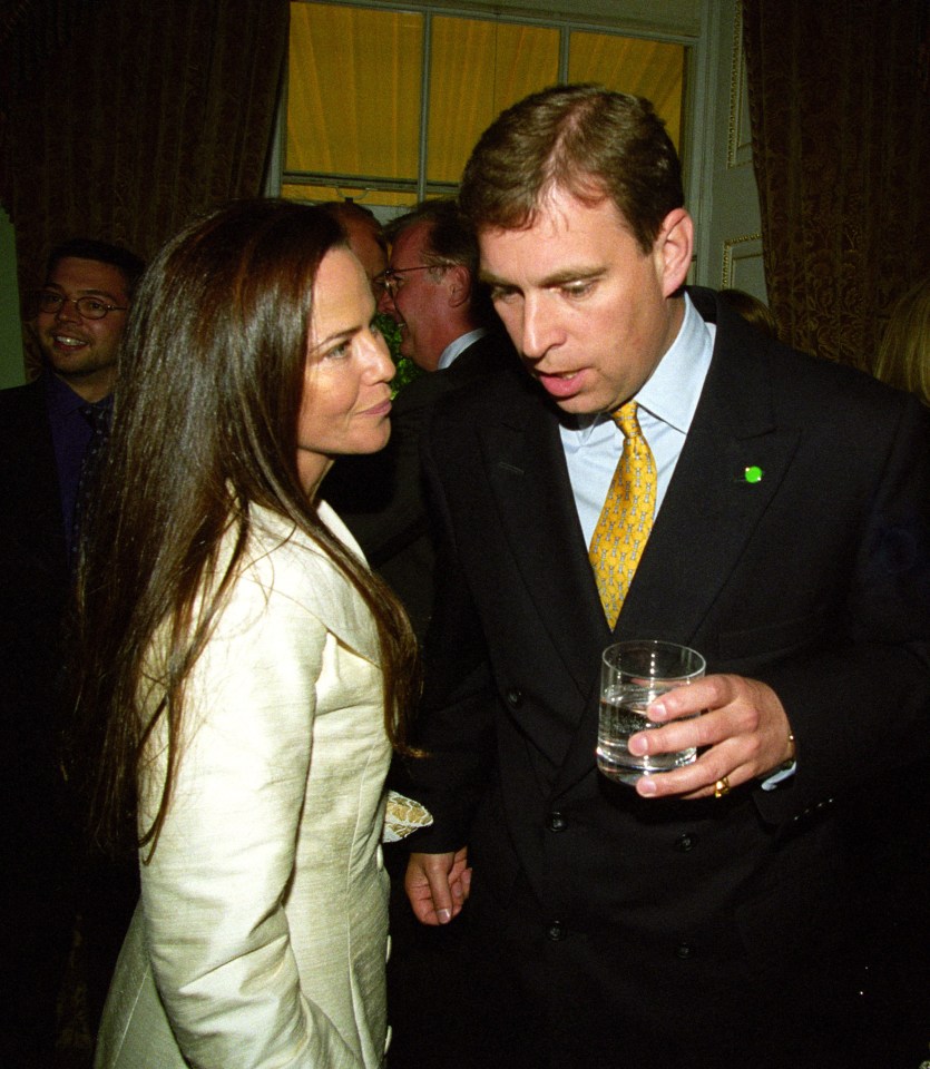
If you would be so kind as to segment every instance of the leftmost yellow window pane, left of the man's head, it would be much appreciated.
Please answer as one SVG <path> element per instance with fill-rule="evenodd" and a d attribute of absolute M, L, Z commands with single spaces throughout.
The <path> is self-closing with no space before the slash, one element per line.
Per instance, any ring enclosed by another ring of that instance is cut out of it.
<path fill-rule="evenodd" d="M 286 171 L 415 180 L 422 16 L 291 4 Z"/>

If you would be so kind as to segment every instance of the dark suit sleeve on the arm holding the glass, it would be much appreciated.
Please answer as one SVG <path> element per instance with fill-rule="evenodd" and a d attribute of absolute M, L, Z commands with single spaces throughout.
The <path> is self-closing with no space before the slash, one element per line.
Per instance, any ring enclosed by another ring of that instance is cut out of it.
<path fill-rule="evenodd" d="M 879 468 L 834 641 L 760 673 L 797 739 L 796 782 L 757 796 L 771 820 L 930 753 L 930 420 L 917 402 Z"/>

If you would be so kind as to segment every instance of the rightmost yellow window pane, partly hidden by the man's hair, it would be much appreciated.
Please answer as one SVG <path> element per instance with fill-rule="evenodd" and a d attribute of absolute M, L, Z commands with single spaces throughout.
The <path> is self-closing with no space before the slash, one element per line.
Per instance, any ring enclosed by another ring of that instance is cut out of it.
<path fill-rule="evenodd" d="M 685 49 L 607 33 L 572 32 L 568 80 L 597 81 L 608 89 L 647 97 L 665 119 L 676 148 L 682 139 Z"/>

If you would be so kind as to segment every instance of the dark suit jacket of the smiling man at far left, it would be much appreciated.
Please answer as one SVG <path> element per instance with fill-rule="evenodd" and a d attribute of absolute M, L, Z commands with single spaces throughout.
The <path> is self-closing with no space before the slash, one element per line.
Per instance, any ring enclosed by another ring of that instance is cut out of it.
<path fill-rule="evenodd" d="M 0 392 L 0 958 L 2 1004 L 14 1029 L 4 1034 L 45 1028 L 50 1041 L 49 998 L 74 920 L 72 828 L 58 745 L 69 578 L 41 381 Z"/>

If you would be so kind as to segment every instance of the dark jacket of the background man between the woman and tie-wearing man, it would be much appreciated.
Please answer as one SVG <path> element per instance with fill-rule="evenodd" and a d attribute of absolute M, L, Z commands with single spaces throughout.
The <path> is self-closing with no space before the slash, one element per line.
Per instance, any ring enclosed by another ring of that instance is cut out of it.
<path fill-rule="evenodd" d="M 432 612 L 435 553 L 423 496 L 420 432 L 440 398 L 505 367 L 512 372 L 516 365 L 506 335 L 479 337 L 450 367 L 421 375 L 398 393 L 385 449 L 340 458 L 321 488 L 321 497 L 345 521 L 369 563 L 403 601 L 421 639 Z"/>

